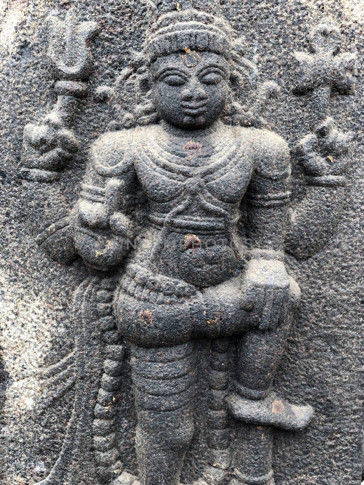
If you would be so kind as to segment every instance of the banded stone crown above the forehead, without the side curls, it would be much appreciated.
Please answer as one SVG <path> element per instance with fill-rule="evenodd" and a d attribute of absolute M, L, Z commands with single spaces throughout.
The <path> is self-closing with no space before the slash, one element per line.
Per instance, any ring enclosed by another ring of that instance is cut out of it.
<path fill-rule="evenodd" d="M 230 57 L 232 29 L 218 0 L 148 0 L 148 16 L 145 52 L 150 62 L 187 48 Z"/>

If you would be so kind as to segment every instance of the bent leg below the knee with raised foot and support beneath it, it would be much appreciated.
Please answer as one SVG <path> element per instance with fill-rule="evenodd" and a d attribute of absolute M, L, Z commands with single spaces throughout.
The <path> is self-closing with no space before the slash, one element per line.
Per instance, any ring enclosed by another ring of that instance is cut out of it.
<path fill-rule="evenodd" d="M 302 429 L 311 420 L 311 406 L 294 406 L 271 391 L 297 306 L 295 296 L 292 293 L 288 314 L 276 328 L 264 332 L 251 330 L 238 339 L 237 393 L 228 398 L 228 407 L 232 416 L 242 423 L 237 436 L 235 479 L 231 485 L 274 485 L 274 428 Z"/>

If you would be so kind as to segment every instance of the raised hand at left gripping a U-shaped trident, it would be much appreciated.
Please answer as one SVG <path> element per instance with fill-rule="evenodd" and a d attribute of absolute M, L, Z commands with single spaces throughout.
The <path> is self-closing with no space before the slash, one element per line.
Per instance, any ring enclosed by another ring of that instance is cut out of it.
<path fill-rule="evenodd" d="M 48 57 L 53 71 L 57 102 L 39 126 L 24 128 L 23 178 L 52 182 L 73 157 L 79 143 L 72 132 L 79 100 L 87 94 L 87 80 L 93 67 L 91 40 L 98 31 L 96 22 L 77 24 L 72 10 L 64 21 L 48 18 Z"/>

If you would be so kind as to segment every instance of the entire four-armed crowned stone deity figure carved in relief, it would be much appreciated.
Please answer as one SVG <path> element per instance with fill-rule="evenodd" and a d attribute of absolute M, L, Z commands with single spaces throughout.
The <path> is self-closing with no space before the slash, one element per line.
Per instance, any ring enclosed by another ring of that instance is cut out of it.
<path fill-rule="evenodd" d="M 257 86 L 217 1 L 186 3 L 149 2 L 144 50 L 114 91 L 114 130 L 92 146 L 74 210 L 38 236 L 51 257 L 79 255 L 90 273 L 75 295 L 74 351 L 41 375 L 43 406 L 75 389 L 42 485 L 187 483 L 196 439 L 204 452 L 195 482 L 273 485 L 274 433 L 302 430 L 313 416 L 273 388 L 300 301 L 284 258 L 311 256 L 340 210 L 351 134 L 336 128 L 329 94 L 352 91 L 355 59 L 337 55 L 339 32 L 326 24 L 312 34 L 312 55 L 295 54 L 295 88 L 312 90 L 313 101 L 312 133 L 296 149 L 306 196 L 291 208 L 290 150 L 261 117 L 276 85 Z M 124 92 L 135 94 L 132 112 Z M 35 131 L 26 127 L 25 140 Z M 316 223 L 319 213 L 329 222 Z M 208 404 L 196 438 L 199 341 Z M 119 443 L 129 366 L 136 469 Z"/>

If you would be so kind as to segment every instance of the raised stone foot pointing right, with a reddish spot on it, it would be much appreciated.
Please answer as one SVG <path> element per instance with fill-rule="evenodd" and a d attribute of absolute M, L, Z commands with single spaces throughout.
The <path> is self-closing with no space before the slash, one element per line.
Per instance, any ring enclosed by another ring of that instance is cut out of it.
<path fill-rule="evenodd" d="M 289 431 L 306 428 L 314 413 L 312 406 L 290 404 L 275 392 L 270 392 L 262 400 L 251 400 L 232 394 L 227 398 L 227 404 L 230 414 L 236 420 Z"/>

